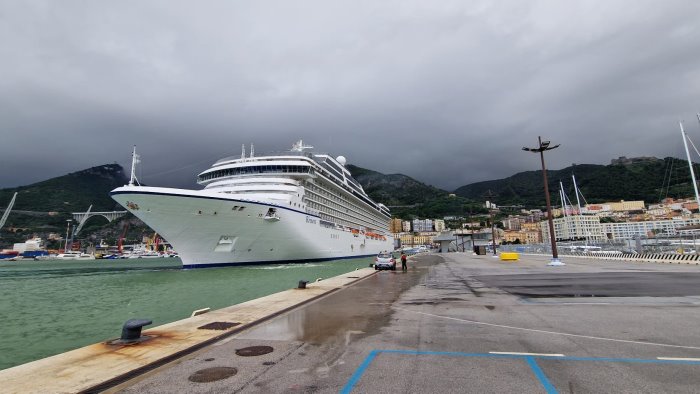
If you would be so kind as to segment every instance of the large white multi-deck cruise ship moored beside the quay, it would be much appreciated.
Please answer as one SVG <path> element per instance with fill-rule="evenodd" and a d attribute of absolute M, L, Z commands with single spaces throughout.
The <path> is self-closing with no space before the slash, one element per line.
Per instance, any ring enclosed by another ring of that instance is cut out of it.
<path fill-rule="evenodd" d="M 288 152 L 225 158 L 203 171 L 201 190 L 140 186 L 110 195 L 157 231 L 183 267 L 296 263 L 393 249 L 389 209 L 372 201 L 342 156 L 298 141 Z"/>

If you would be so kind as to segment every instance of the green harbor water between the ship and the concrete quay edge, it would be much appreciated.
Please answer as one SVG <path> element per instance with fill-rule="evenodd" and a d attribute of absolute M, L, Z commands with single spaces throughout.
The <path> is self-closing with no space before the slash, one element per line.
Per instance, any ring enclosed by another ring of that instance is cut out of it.
<path fill-rule="evenodd" d="M 180 260 L 0 262 L 0 369 L 369 266 L 370 258 L 183 270 Z"/>

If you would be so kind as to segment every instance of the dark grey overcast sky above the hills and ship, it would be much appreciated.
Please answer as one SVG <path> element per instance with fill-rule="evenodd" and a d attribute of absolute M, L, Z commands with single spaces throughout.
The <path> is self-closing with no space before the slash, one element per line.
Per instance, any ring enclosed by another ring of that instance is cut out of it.
<path fill-rule="evenodd" d="M 0 187 L 316 150 L 452 190 L 700 143 L 700 2 L 0 0 Z M 700 145 L 700 144 L 699 144 Z M 659 184 L 662 180 L 659 179 Z"/>

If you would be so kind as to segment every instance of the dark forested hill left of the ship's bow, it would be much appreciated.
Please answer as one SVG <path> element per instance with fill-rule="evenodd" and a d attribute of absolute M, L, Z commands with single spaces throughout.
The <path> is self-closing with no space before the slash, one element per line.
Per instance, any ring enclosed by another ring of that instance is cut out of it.
<path fill-rule="evenodd" d="M 112 211 L 121 208 L 109 192 L 128 179 L 119 164 L 105 164 L 27 186 L 0 190 L 0 206 L 6 207 L 18 192 L 14 210 L 37 212 Z"/>

